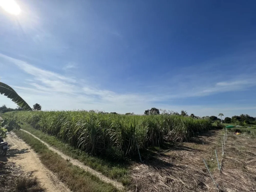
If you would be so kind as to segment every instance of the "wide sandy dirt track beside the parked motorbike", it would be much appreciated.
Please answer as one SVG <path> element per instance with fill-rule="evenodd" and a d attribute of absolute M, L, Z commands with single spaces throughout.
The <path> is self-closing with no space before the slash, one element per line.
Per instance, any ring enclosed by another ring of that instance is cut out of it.
<path fill-rule="evenodd" d="M 16 165 L 22 167 L 26 174 L 36 176 L 48 192 L 70 192 L 51 171 L 44 167 L 37 154 L 15 133 L 8 133 L 4 141 L 8 142 L 10 150 L 5 157 L 0 157 L 0 161 L 15 162 Z"/>

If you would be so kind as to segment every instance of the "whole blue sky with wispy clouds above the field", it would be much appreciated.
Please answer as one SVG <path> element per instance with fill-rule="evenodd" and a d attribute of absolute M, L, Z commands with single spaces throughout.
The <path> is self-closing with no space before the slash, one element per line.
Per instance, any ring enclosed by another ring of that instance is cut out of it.
<path fill-rule="evenodd" d="M 255 1 L 16 3 L 0 6 L 0 77 L 30 106 L 256 116 Z"/>

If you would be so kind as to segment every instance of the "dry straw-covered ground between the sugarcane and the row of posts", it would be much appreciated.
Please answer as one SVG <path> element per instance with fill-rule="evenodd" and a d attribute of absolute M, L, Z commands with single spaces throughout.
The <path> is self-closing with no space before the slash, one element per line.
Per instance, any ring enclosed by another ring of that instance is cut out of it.
<path fill-rule="evenodd" d="M 135 191 L 216 191 L 202 158 L 211 161 L 219 130 L 175 145 L 132 169 Z M 203 144 L 204 143 L 204 144 Z M 213 162 L 215 164 L 215 162 Z"/>

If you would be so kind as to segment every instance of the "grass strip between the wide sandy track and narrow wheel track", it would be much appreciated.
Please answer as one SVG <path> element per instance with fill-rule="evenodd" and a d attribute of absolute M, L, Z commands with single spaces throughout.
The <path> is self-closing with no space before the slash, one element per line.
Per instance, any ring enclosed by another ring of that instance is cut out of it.
<path fill-rule="evenodd" d="M 52 152 L 39 140 L 23 131 L 15 131 L 18 137 L 22 138 L 38 153 L 41 162 L 52 172 L 56 173 L 59 179 L 72 191 L 119 191 L 113 185 L 102 182 L 98 177 L 83 169 L 72 165 L 67 160 Z"/>

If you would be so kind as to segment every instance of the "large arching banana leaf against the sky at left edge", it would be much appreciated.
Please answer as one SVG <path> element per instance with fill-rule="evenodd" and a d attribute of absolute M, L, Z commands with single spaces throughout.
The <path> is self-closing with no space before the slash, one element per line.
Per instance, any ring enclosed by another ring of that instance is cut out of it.
<path fill-rule="evenodd" d="M 14 103 L 23 108 L 24 110 L 32 110 L 30 106 L 24 101 L 13 88 L 5 83 L 0 82 L 0 94 L 10 98 Z"/>

